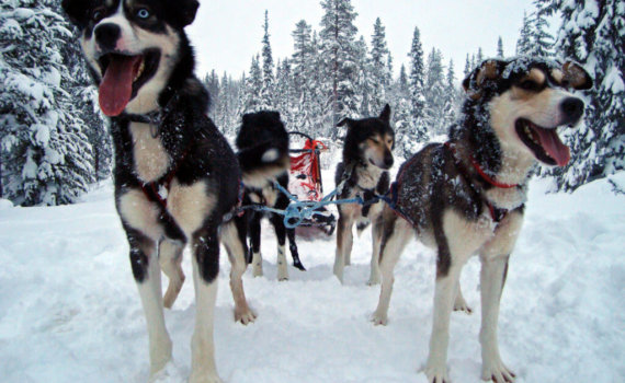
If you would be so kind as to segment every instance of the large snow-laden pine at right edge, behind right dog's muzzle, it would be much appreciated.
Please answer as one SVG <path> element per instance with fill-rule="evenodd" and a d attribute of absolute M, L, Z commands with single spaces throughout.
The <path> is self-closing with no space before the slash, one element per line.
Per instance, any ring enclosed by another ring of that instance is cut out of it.
<path fill-rule="evenodd" d="M 625 169 L 625 5 L 620 0 L 535 2 L 561 18 L 556 49 L 584 66 L 594 80 L 586 93 L 586 124 L 570 134 L 571 161 L 555 169 L 557 188 L 573 190 Z"/>

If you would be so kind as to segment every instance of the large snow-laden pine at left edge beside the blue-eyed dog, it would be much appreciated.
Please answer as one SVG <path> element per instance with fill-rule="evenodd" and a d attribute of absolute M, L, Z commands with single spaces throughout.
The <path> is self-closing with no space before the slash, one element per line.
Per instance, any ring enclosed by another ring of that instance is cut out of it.
<path fill-rule="evenodd" d="M 53 0 L 0 4 L 0 197 L 22 206 L 72 202 L 95 179 L 76 73 L 64 62 L 72 34 L 57 9 Z"/>

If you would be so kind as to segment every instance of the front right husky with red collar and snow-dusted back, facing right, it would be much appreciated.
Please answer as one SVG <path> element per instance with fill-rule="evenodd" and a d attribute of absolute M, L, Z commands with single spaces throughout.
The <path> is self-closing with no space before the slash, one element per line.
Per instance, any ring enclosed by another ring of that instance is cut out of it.
<path fill-rule="evenodd" d="M 375 324 L 387 323 L 393 269 L 416 235 L 438 249 L 434 317 L 424 372 L 450 382 L 450 315 L 466 303 L 458 278 L 467 259 L 481 260 L 484 380 L 512 382 L 499 355 L 497 322 L 508 260 L 523 222 L 527 182 L 536 161 L 564 166 L 570 152 L 557 129 L 575 127 L 584 113 L 569 89 L 592 86 L 578 65 L 520 57 L 487 60 L 463 82 L 462 116 L 445 144 L 432 143 L 399 170 L 396 211 L 383 212 L 382 292 Z M 395 188 L 394 188 L 395 189 Z"/>

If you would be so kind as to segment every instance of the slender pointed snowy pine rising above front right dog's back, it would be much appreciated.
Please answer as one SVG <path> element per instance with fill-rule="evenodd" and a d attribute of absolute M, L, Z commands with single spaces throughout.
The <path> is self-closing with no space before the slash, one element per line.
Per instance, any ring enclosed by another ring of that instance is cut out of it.
<path fill-rule="evenodd" d="M 410 74 L 408 77 L 411 106 L 410 130 L 405 137 L 397 140 L 399 144 L 406 148 L 405 153 L 411 153 L 413 142 L 424 141 L 428 137 L 428 127 L 423 120 L 425 113 L 423 48 L 421 33 L 417 26 L 412 34 L 412 44 L 408 57 L 410 58 Z"/>

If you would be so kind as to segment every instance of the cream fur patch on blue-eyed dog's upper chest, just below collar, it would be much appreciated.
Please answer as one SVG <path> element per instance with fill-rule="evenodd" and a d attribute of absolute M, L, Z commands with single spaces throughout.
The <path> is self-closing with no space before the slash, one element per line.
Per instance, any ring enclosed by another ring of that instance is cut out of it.
<path fill-rule="evenodd" d="M 130 123 L 133 137 L 133 156 L 135 174 L 144 182 L 154 182 L 162 177 L 170 165 L 170 156 L 160 138 L 151 135 L 148 124 Z"/>

